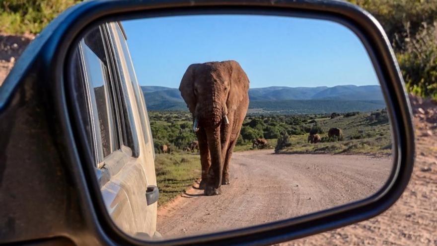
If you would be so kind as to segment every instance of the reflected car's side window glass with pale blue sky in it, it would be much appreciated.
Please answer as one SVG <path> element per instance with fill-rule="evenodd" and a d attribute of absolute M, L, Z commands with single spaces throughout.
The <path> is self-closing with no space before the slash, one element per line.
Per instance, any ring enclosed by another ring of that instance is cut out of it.
<path fill-rule="evenodd" d="M 92 115 L 96 161 L 100 163 L 113 151 L 120 149 L 120 145 L 112 103 L 108 59 L 99 27 L 84 37 L 81 47 L 89 88 L 88 110 Z"/>

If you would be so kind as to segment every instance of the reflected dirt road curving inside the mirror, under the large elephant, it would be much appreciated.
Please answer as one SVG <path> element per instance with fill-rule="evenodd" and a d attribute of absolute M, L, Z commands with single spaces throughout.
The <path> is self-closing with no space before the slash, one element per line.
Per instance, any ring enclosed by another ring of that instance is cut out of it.
<path fill-rule="evenodd" d="M 200 234 L 287 219 L 363 199 L 386 181 L 390 158 L 234 153 L 222 195 L 191 188 L 158 211 L 164 237 Z"/>

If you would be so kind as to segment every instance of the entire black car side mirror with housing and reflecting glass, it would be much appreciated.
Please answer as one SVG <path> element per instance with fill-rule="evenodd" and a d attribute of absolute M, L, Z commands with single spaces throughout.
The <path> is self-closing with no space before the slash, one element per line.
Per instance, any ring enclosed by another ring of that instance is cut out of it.
<path fill-rule="evenodd" d="M 337 0 L 80 3 L 0 122 L 1 243 L 275 244 L 382 213 L 414 163 L 387 37 Z"/>

